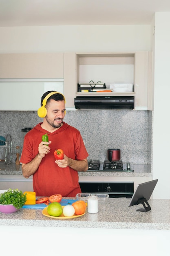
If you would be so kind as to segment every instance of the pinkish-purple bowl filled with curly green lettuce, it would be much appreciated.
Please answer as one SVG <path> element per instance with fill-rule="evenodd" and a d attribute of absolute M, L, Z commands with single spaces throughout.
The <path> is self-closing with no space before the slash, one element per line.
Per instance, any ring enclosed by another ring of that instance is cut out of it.
<path fill-rule="evenodd" d="M 0 190 L 0 212 L 14 213 L 22 208 L 26 202 L 26 195 L 18 189 Z"/>

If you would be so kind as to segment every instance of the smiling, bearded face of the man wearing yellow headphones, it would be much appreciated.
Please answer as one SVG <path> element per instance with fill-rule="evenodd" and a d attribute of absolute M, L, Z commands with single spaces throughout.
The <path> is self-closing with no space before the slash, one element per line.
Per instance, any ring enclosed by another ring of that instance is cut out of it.
<path fill-rule="evenodd" d="M 47 123 L 53 128 L 60 128 L 62 125 L 62 121 L 65 117 L 65 102 L 63 101 L 55 101 L 51 99 L 46 104 L 47 115 L 45 117 Z"/>

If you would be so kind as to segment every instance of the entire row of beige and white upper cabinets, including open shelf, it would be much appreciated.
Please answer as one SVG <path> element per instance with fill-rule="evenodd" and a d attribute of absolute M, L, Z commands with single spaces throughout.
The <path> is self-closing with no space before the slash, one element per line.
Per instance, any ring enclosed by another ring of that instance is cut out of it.
<path fill-rule="evenodd" d="M 133 84 L 133 92 L 79 92 L 79 83 Z M 22 83 L 20 83 L 22 82 Z M 152 52 L 0 54 L 0 110 L 37 110 L 47 90 L 76 96 L 134 96 L 135 110 L 153 110 Z M 9 95 L 10 92 L 10 95 Z"/>

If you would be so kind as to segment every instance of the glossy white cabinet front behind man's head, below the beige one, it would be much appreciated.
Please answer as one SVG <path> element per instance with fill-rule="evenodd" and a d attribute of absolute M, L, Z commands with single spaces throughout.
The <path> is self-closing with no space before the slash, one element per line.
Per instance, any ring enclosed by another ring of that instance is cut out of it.
<path fill-rule="evenodd" d="M 0 79 L 0 110 L 37 111 L 46 91 L 64 92 L 64 79 Z"/>

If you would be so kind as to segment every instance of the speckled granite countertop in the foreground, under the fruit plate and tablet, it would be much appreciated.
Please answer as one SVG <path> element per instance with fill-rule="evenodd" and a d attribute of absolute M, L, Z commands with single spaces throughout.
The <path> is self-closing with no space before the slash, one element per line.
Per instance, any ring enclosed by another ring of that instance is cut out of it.
<path fill-rule="evenodd" d="M 0 225 L 170 230 L 170 200 L 150 199 L 148 212 L 136 211 L 141 204 L 128 207 L 129 202 L 128 198 L 108 198 L 106 204 L 99 203 L 98 213 L 86 210 L 84 216 L 61 220 L 44 216 L 42 209 L 22 208 L 15 213 L 0 213 Z"/>

